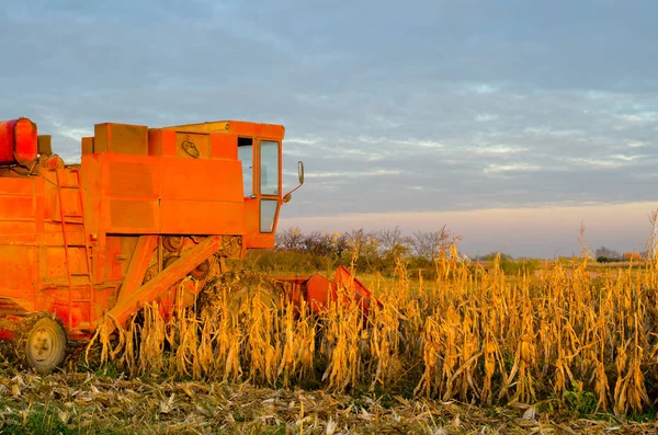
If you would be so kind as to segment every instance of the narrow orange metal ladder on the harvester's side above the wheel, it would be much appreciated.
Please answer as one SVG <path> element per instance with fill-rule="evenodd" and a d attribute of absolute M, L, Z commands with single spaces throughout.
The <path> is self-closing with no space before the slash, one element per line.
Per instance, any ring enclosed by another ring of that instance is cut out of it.
<path fill-rule="evenodd" d="M 76 175 L 76 184 L 75 185 L 68 185 L 61 184 L 61 176 L 63 174 L 65 174 L 66 172 L 69 172 L 71 174 Z M 88 323 L 88 325 L 91 325 L 91 311 L 93 309 L 93 277 L 91 274 L 91 247 L 89 245 L 89 234 L 87 233 L 87 226 L 84 224 L 84 203 L 83 203 L 83 196 L 82 195 L 82 188 L 81 188 L 81 180 L 80 180 L 80 170 L 79 169 L 55 169 L 55 180 L 56 180 L 56 184 L 57 184 L 57 196 L 59 198 L 59 217 L 61 219 L 61 236 L 64 239 L 64 256 L 66 260 L 66 273 L 67 273 L 67 277 L 68 277 L 68 290 L 69 290 L 69 296 L 68 296 L 68 302 L 69 302 L 69 310 L 68 310 L 68 328 L 72 328 L 72 307 L 73 304 L 79 304 L 79 302 L 88 302 L 89 304 L 89 309 L 87 310 L 87 313 L 89 316 L 88 319 L 84 319 L 84 321 Z M 79 204 L 80 204 L 80 214 L 73 214 L 73 215 L 67 215 L 65 211 L 65 203 L 63 201 L 63 191 L 78 191 L 78 199 L 79 199 Z M 69 234 L 67 231 L 67 224 L 68 225 L 80 225 L 82 227 L 82 234 L 83 234 L 83 243 L 70 243 L 69 242 Z M 84 272 L 76 272 L 72 273 L 71 272 L 71 254 L 70 254 L 70 249 L 79 249 L 79 248 L 84 248 L 84 257 L 86 257 L 86 271 Z M 80 277 L 84 277 L 86 278 L 86 283 L 84 284 L 73 284 L 73 279 L 75 278 L 80 278 Z M 82 298 L 78 298 L 78 299 L 73 299 L 73 288 L 80 288 L 83 289 L 82 291 Z M 84 311 L 84 310 L 83 310 Z"/>

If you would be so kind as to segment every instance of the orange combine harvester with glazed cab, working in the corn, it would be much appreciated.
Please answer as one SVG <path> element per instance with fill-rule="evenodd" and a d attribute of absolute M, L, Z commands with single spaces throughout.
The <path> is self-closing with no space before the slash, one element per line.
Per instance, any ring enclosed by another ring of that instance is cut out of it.
<path fill-rule="evenodd" d="M 284 131 L 240 121 L 97 124 L 80 164 L 65 164 L 29 118 L 0 122 L 0 339 L 49 371 L 68 340 L 89 340 L 110 318 L 125 324 L 154 300 L 170 314 L 177 297 L 193 304 L 226 271 L 225 259 L 273 248 L 290 201 Z M 372 297 L 342 267 L 333 281 L 276 279 L 316 311 L 339 286 L 365 308 Z"/>

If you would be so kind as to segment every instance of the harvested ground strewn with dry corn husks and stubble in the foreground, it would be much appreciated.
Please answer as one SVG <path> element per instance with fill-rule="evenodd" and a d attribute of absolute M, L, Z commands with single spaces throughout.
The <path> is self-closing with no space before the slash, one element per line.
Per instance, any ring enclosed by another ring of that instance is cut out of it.
<path fill-rule="evenodd" d="M 0 375 L 9 434 L 650 434 L 658 423 L 576 419 L 552 403 L 477 408 L 250 384 L 125 379 L 91 373 Z"/>

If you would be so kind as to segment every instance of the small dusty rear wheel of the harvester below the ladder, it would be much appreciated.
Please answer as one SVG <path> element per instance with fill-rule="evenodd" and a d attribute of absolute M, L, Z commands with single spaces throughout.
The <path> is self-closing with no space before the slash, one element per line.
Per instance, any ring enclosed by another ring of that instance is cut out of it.
<path fill-rule="evenodd" d="M 47 312 L 27 316 L 14 331 L 14 351 L 19 364 L 47 374 L 66 356 L 67 337 L 61 321 Z"/>

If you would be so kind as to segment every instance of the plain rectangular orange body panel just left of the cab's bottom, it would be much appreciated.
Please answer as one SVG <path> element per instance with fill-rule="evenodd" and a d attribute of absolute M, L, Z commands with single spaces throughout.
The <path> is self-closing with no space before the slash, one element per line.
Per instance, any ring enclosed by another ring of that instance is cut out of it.
<path fill-rule="evenodd" d="M 243 234 L 245 208 L 242 203 L 162 199 L 160 231 L 181 234 Z"/>

